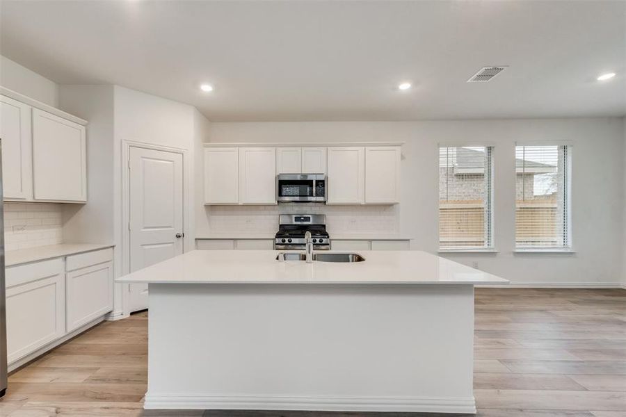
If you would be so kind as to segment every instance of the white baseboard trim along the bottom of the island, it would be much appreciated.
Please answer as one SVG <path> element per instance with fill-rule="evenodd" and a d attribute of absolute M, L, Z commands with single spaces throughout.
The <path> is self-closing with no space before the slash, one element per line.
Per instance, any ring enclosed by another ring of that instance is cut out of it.
<path fill-rule="evenodd" d="M 241 409 L 294 411 L 396 411 L 476 414 L 474 397 L 273 397 L 261 395 L 145 395 L 145 409 Z"/>

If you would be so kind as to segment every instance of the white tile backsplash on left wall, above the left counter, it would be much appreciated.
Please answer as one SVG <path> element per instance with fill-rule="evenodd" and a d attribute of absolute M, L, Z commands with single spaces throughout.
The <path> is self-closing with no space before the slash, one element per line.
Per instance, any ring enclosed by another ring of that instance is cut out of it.
<path fill-rule="evenodd" d="M 63 242 L 63 211 L 54 203 L 4 203 L 5 250 Z"/>

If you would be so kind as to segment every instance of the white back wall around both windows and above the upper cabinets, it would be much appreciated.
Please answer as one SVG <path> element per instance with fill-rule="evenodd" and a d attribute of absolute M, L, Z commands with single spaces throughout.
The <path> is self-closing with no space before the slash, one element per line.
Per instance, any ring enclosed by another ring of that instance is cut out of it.
<path fill-rule="evenodd" d="M 495 145 L 495 244 L 498 254 L 451 259 L 515 284 L 604 285 L 623 267 L 623 120 L 468 120 L 435 122 L 212 123 L 211 142 L 403 141 L 399 231 L 417 250 L 438 251 L 438 144 Z M 515 141 L 571 140 L 572 229 L 576 254 L 514 254 Z M 206 213 L 209 213 L 207 209 Z M 198 220 L 200 224 L 200 220 Z M 616 227 L 619 225 L 619 227 Z M 331 235 L 332 238 L 332 235 Z"/>

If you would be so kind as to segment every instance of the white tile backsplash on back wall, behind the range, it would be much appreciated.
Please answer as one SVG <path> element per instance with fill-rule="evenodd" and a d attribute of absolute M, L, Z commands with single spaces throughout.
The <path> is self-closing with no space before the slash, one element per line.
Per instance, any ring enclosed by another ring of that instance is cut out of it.
<path fill-rule="evenodd" d="M 211 233 L 269 233 L 279 214 L 325 214 L 332 234 L 398 233 L 399 206 L 329 206 L 291 203 L 278 206 L 206 206 Z"/>

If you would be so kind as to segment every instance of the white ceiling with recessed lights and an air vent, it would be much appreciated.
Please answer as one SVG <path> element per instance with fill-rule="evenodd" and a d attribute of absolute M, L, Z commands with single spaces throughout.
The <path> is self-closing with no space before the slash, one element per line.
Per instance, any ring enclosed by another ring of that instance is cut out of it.
<path fill-rule="evenodd" d="M 626 1 L 0 6 L 0 54 L 57 83 L 115 83 L 214 121 L 626 114 Z M 510 67 L 465 82 L 485 65 Z M 399 92 L 401 81 L 414 88 Z"/>

